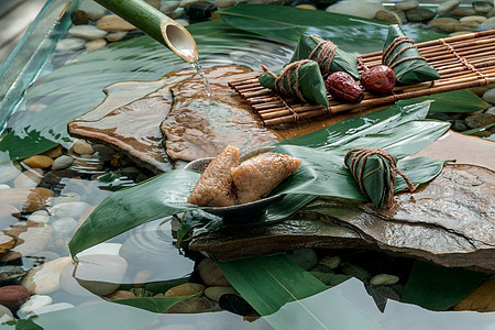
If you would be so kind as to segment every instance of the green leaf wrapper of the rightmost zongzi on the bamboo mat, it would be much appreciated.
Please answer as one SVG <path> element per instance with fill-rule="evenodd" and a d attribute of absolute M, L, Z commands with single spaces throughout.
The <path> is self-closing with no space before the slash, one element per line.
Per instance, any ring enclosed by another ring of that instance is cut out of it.
<path fill-rule="evenodd" d="M 383 51 L 385 52 L 385 50 L 388 47 L 389 44 L 392 44 L 394 40 L 402 36 L 406 36 L 406 34 L 403 32 L 400 26 L 391 25 L 388 28 L 388 36 L 383 47 Z M 410 42 L 398 44 L 396 48 L 389 54 L 389 56 L 384 58 L 384 64 L 387 66 L 393 66 L 394 63 L 398 63 L 404 58 L 421 56 L 421 54 L 418 52 L 417 48 L 410 48 L 405 51 L 394 59 L 395 54 L 397 54 L 400 50 L 410 45 L 413 45 L 413 43 Z M 394 66 L 393 70 L 395 73 L 397 81 L 402 84 L 416 84 L 440 79 L 440 75 L 437 73 L 437 70 L 432 66 L 429 66 L 425 59 L 405 61 Z"/>

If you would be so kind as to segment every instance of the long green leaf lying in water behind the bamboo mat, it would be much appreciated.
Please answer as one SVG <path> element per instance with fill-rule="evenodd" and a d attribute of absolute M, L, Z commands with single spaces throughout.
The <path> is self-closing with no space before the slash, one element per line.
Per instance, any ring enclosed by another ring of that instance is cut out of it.
<path fill-rule="evenodd" d="M 274 41 L 296 44 L 302 33 L 317 34 L 360 54 L 381 51 L 388 31 L 388 24 L 378 21 L 280 6 L 242 4 L 217 14 L 232 26 Z M 406 33 L 416 42 L 444 36 L 424 29 L 406 29 Z"/>

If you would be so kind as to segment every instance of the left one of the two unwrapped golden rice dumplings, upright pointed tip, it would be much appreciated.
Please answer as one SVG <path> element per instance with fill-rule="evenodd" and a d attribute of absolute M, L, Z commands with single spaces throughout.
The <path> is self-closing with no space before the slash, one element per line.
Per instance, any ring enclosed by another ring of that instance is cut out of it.
<path fill-rule="evenodd" d="M 239 165 L 240 151 L 228 145 L 202 173 L 187 202 L 198 206 L 226 207 L 235 204 L 231 167 Z"/>

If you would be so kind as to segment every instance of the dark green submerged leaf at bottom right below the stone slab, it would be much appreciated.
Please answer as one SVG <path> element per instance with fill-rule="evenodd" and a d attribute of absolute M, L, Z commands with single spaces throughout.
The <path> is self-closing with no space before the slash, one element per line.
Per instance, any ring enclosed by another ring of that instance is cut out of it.
<path fill-rule="evenodd" d="M 402 300 L 431 310 L 447 310 L 471 294 L 486 274 L 415 262 Z"/>

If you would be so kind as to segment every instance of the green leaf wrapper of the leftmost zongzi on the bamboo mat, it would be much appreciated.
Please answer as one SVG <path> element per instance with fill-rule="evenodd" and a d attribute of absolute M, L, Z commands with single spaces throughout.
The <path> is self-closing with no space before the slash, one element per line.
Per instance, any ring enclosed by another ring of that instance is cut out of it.
<path fill-rule="evenodd" d="M 276 73 L 279 75 L 279 72 Z M 284 94 L 280 88 L 276 86 L 276 79 L 270 74 L 263 74 L 258 78 L 260 84 L 266 88 L 276 90 Z M 305 63 L 299 69 L 299 77 L 297 76 L 297 68 L 293 69 L 289 79 L 282 81 L 285 86 L 285 92 L 287 96 L 298 97 L 293 89 L 299 89 L 301 96 L 307 102 L 317 103 L 328 107 L 327 88 L 324 87 L 324 80 L 320 73 L 318 63 Z"/>

